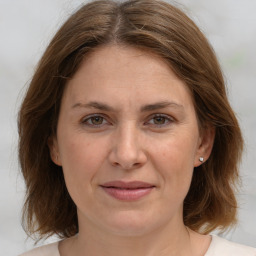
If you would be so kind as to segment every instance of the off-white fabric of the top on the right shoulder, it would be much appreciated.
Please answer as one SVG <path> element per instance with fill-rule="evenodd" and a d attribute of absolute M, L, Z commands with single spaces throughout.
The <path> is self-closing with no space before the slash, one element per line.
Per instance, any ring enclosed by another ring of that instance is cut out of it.
<path fill-rule="evenodd" d="M 212 236 L 212 242 L 205 256 L 256 256 L 256 248 Z"/>

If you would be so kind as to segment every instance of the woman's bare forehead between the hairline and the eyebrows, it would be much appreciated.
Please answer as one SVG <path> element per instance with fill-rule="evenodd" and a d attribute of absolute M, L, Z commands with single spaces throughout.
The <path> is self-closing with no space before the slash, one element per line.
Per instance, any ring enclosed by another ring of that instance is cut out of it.
<path fill-rule="evenodd" d="M 73 102 L 110 99 L 119 105 L 128 100 L 147 104 L 169 99 L 192 104 L 188 87 L 163 59 L 117 45 L 100 47 L 86 56 L 68 82 L 65 97 Z"/>

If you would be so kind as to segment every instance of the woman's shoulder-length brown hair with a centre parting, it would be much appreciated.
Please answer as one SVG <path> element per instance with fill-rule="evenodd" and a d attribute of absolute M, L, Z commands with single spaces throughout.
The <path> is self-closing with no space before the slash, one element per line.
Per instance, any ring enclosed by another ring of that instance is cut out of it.
<path fill-rule="evenodd" d="M 70 237 L 78 232 L 76 206 L 61 167 L 50 158 L 65 85 L 98 46 L 125 44 L 166 60 L 192 92 L 200 126 L 216 130 L 210 158 L 195 168 L 184 201 L 184 223 L 208 233 L 236 221 L 234 195 L 243 140 L 228 103 L 223 75 L 204 35 L 182 11 L 158 0 L 93 1 L 74 13 L 46 49 L 19 112 L 19 160 L 27 194 L 29 234 Z"/>

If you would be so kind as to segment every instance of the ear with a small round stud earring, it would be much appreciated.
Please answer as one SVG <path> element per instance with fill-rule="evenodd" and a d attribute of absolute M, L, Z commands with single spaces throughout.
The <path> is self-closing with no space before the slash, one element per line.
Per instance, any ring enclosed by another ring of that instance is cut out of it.
<path fill-rule="evenodd" d="M 194 167 L 200 166 L 203 162 L 207 161 L 212 152 L 212 147 L 215 139 L 215 128 L 206 126 L 201 129 L 199 137 L 198 148 L 194 160 Z M 203 159 L 202 159 L 203 158 Z"/>

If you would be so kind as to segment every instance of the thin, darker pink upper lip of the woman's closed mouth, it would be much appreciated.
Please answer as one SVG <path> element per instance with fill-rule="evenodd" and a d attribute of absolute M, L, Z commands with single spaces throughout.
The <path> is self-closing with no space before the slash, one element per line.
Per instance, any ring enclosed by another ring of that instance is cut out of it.
<path fill-rule="evenodd" d="M 152 188 L 154 185 L 143 181 L 110 181 L 101 185 L 106 188 L 122 188 L 122 189 L 136 189 L 136 188 Z"/>

